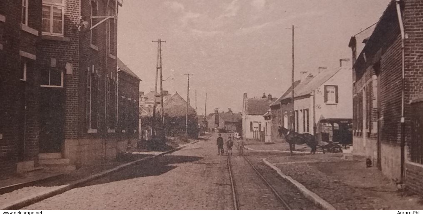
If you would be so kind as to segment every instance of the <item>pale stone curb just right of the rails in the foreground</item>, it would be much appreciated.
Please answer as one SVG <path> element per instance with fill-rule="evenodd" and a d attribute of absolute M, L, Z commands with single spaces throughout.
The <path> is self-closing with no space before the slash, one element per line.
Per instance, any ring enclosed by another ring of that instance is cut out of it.
<path fill-rule="evenodd" d="M 298 188 L 299 191 L 309 200 L 313 201 L 314 204 L 320 206 L 321 208 L 325 210 L 336 210 L 335 207 L 332 206 L 332 204 L 329 204 L 329 202 L 322 199 L 320 196 L 318 196 L 316 193 L 313 193 L 309 189 L 307 189 L 304 185 L 300 184 L 296 180 L 294 180 L 292 177 L 287 176 L 280 171 L 279 168 L 277 168 L 275 165 L 270 163 L 266 160 L 266 158 L 263 159 L 263 162 L 266 163 L 267 166 L 270 166 L 270 168 L 274 169 L 277 174 L 279 174 L 283 179 L 287 180 L 288 182 L 291 182 L 294 186 Z"/>

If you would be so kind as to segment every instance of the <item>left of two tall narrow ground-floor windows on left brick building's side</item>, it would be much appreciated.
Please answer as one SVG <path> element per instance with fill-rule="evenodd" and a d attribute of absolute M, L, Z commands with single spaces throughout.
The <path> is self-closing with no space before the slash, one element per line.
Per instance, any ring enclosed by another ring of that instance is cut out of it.
<path fill-rule="evenodd" d="M 99 76 L 98 71 L 92 66 L 87 71 L 86 94 L 86 128 L 88 133 L 97 132 L 99 118 Z"/>

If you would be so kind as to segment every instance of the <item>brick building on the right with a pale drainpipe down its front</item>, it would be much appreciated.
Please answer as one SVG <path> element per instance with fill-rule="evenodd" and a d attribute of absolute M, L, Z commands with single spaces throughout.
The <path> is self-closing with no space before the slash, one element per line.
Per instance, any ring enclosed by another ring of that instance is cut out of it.
<path fill-rule="evenodd" d="M 423 191 L 422 19 L 422 1 L 391 1 L 357 52 L 353 70 L 354 153 L 373 158 L 384 174 L 418 193 Z M 354 57 L 354 41 L 350 46 Z"/>

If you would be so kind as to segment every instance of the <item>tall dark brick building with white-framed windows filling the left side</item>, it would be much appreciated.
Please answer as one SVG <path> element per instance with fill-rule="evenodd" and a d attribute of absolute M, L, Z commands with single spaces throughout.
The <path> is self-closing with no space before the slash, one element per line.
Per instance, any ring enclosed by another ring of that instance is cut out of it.
<path fill-rule="evenodd" d="M 74 169 L 114 159 L 126 148 L 122 140 L 137 133 L 137 117 L 129 126 L 126 120 L 120 123 L 128 114 L 118 112 L 122 100 L 116 42 L 121 4 L 115 0 L 0 3 L 0 168 L 12 173 L 40 165 L 55 169 L 51 164 L 61 163 Z M 133 80 L 121 77 L 121 89 L 136 94 L 124 95 L 136 105 L 129 108 L 124 103 L 121 109 L 137 113 L 139 80 L 127 87 L 124 82 Z"/>

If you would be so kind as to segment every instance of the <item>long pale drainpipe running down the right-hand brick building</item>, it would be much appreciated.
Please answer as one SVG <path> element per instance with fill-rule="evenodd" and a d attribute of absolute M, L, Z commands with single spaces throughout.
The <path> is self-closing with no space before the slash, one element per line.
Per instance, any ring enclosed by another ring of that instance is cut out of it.
<path fill-rule="evenodd" d="M 401 81 L 401 183 L 404 183 L 405 170 L 405 117 L 404 117 L 404 101 L 405 101 L 405 53 L 404 53 L 404 23 L 402 22 L 400 0 L 396 0 L 396 11 L 398 15 L 398 24 L 401 30 L 401 54 L 402 54 L 402 81 Z"/>

